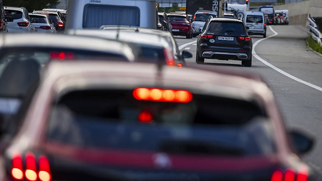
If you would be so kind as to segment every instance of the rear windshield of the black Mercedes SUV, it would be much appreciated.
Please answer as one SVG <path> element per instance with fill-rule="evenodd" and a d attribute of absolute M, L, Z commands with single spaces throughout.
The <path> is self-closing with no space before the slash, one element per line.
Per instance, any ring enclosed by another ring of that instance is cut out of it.
<path fill-rule="evenodd" d="M 235 32 L 245 33 L 244 26 L 240 22 L 214 21 L 209 24 L 209 32 Z"/>

